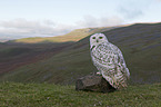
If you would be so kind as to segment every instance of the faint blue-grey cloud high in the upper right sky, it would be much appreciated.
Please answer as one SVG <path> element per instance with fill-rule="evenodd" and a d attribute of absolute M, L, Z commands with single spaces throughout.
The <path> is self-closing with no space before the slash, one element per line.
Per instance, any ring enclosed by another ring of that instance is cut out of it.
<path fill-rule="evenodd" d="M 124 20 L 133 20 L 144 16 L 147 9 L 151 6 L 152 0 L 122 0 L 117 8 L 117 11 Z"/>

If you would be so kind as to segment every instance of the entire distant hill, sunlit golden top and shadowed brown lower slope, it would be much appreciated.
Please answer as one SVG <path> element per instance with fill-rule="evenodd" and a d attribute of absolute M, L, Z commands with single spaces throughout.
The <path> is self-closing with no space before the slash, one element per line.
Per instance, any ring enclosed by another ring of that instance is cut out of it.
<path fill-rule="evenodd" d="M 112 28 L 114 27 L 77 29 L 64 36 L 23 38 L 0 42 L 0 76 L 21 66 L 50 58 L 81 38 Z"/>

